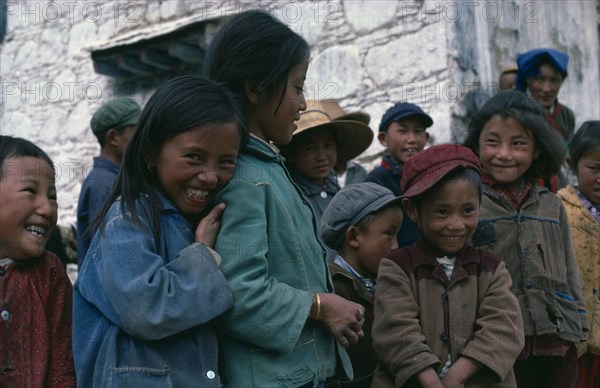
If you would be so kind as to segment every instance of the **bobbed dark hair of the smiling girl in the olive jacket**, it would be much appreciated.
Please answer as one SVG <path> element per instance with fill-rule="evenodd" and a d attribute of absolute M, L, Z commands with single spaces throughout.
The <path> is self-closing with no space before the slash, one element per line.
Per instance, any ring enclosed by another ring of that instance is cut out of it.
<path fill-rule="evenodd" d="M 531 133 L 540 156 L 531 163 L 531 177 L 550 176 L 560 170 L 565 158 L 565 145 L 560 135 L 548 124 L 544 109 L 533 98 L 516 90 L 505 90 L 490 98 L 469 123 L 464 146 L 479 155 L 479 137 L 485 124 L 494 116 L 517 120 Z"/>

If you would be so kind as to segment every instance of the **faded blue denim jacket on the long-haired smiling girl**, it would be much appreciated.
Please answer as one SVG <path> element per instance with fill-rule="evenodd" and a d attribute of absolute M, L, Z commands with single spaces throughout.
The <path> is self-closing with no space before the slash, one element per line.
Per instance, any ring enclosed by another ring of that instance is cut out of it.
<path fill-rule="evenodd" d="M 117 200 L 79 270 L 73 292 L 73 354 L 80 387 L 221 385 L 217 339 L 208 322 L 229 309 L 231 291 L 194 231 L 161 199 L 160 249 L 125 219 Z"/>

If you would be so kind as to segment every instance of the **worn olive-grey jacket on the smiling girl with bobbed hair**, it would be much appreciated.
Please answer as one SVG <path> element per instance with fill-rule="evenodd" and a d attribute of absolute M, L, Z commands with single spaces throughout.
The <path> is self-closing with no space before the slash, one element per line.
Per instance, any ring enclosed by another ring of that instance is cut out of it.
<path fill-rule="evenodd" d="M 501 257 L 523 313 L 525 336 L 555 334 L 579 343 L 587 334 L 586 309 L 560 199 L 535 185 L 519 210 L 484 185 L 473 245 Z"/>

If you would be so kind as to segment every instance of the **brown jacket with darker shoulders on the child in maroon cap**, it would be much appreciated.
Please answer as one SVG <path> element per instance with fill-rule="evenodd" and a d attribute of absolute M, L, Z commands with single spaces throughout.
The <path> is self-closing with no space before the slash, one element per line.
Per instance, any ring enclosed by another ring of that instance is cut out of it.
<path fill-rule="evenodd" d="M 427 367 L 439 373 L 448 354 L 484 368 L 466 387 L 514 387 L 512 366 L 524 344 L 521 311 L 497 257 L 470 246 L 448 281 L 423 239 L 383 259 L 375 292 L 373 387 L 418 386 Z"/>

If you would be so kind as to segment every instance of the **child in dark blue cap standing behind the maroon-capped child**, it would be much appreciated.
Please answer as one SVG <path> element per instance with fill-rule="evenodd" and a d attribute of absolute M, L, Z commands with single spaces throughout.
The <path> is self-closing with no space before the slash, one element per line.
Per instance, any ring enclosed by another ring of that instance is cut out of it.
<path fill-rule="evenodd" d="M 402 167 L 409 157 L 423 151 L 429 139 L 427 128 L 432 125 L 431 117 L 415 104 L 398 102 L 389 108 L 381 118 L 377 136 L 388 154 L 381 165 L 367 175 L 365 182 L 375 182 L 394 195 L 401 195 Z M 419 237 L 419 228 L 406 214 L 397 237 L 399 247 L 411 245 Z"/>

